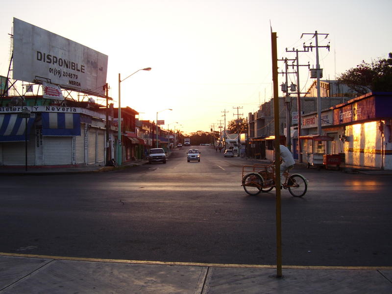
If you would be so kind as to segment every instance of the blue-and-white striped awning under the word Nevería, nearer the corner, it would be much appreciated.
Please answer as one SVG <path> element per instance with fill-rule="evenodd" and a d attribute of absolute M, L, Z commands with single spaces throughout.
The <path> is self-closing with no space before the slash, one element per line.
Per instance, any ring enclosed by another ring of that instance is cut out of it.
<path fill-rule="evenodd" d="M 42 135 L 80 136 L 80 114 L 42 112 Z"/>

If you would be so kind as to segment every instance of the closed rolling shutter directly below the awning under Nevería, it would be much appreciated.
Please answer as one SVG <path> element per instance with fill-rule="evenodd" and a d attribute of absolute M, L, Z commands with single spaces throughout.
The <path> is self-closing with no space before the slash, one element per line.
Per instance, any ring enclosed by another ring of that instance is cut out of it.
<path fill-rule="evenodd" d="M 44 136 L 44 165 L 72 164 L 72 137 Z"/>

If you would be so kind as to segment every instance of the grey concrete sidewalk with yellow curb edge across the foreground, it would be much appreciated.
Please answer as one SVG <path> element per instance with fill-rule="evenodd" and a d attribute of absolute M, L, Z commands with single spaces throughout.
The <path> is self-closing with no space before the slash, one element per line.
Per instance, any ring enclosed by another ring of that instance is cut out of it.
<path fill-rule="evenodd" d="M 392 268 L 283 267 L 0 253 L 0 294 L 391 294 Z"/>

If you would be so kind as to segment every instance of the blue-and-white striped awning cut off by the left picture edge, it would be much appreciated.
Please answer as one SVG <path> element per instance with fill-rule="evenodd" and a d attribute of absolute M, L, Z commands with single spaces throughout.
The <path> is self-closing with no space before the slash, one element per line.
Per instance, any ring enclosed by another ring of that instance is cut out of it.
<path fill-rule="evenodd" d="M 27 120 L 27 140 L 35 118 L 18 118 L 18 114 L 0 114 L 0 142 L 25 141 Z"/>

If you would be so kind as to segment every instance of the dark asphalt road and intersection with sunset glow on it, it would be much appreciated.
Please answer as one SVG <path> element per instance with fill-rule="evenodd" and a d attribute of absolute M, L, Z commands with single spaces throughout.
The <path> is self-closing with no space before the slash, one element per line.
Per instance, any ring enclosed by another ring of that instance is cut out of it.
<path fill-rule="evenodd" d="M 252 161 L 198 147 L 121 172 L 1 177 L 0 252 L 276 264 L 275 190 L 248 196 Z M 282 191 L 284 265 L 391 266 L 391 176 L 296 168 L 303 198 Z"/>

